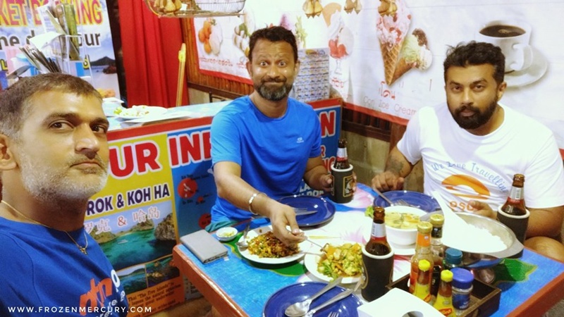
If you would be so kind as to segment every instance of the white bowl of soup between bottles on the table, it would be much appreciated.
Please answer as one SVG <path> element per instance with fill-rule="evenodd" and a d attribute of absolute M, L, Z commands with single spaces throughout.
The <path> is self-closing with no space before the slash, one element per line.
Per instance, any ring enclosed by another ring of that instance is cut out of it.
<path fill-rule="evenodd" d="M 427 212 L 410 206 L 386 207 L 386 235 L 388 242 L 399 245 L 415 244 L 417 223 Z"/>

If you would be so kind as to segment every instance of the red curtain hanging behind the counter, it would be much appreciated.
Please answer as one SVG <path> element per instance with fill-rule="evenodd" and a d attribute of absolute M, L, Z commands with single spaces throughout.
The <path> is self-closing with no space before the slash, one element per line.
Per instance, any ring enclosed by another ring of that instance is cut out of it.
<path fill-rule="evenodd" d="M 159 18 L 143 0 L 118 0 L 128 106 L 176 106 L 179 18 Z M 182 105 L 188 104 L 183 80 Z"/>

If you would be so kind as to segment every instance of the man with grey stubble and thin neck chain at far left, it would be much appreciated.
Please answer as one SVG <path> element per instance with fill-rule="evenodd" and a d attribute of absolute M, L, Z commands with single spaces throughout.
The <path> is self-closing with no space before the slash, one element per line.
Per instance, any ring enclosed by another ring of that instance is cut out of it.
<path fill-rule="evenodd" d="M 84 228 L 106 185 L 108 128 L 102 97 L 78 77 L 25 77 L 0 93 L 0 316 L 127 316 Z"/>

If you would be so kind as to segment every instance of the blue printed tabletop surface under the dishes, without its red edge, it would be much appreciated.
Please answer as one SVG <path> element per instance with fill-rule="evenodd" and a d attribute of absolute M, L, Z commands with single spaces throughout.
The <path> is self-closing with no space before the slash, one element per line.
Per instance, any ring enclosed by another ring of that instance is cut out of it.
<path fill-rule="evenodd" d="M 372 189 L 365 185 L 359 185 L 359 189 L 359 197 L 355 197 L 355 200 L 374 199 Z M 355 204 L 364 204 L 366 206 L 366 201 L 357 201 L 356 203 L 353 201 L 348 205 L 336 204 L 336 209 L 339 213 L 353 211 L 350 213 L 350 216 L 355 215 L 358 218 L 359 211 L 363 209 Z M 371 223 L 368 218 L 367 221 Z M 255 220 L 251 228 L 258 228 L 266 224 L 268 224 L 266 219 Z M 242 223 L 238 227 L 242 229 L 244 225 Z M 333 224 L 330 223 L 329 225 Z M 249 316 L 262 316 L 264 304 L 268 301 L 271 294 L 274 294 L 277 290 L 298 281 L 309 280 L 309 277 L 305 275 L 306 270 L 302 262 L 293 263 L 292 268 L 288 269 L 288 273 L 280 269 L 270 268 L 269 266 L 259 267 L 242 258 L 238 251 L 235 251 L 232 244 L 233 242 L 225 244 L 228 249 L 228 256 L 226 258 L 208 264 L 202 264 L 184 246 L 180 245 L 179 248 L 197 264 L 205 275 L 214 280 L 233 301 L 243 308 Z M 499 309 L 493 315 L 496 317 L 507 316 L 508 313 L 517 309 L 529 297 L 532 297 L 541 288 L 564 273 L 564 263 L 548 259 L 528 249 L 525 249 L 520 259 L 512 259 L 509 262 L 523 270 L 519 274 L 524 278 L 497 280 L 495 282 L 494 286 L 502 290 Z M 400 276 L 397 276 L 396 271 L 394 271 L 394 279 L 397 280 L 398 278 Z M 516 282 L 515 280 L 519 281 Z"/>

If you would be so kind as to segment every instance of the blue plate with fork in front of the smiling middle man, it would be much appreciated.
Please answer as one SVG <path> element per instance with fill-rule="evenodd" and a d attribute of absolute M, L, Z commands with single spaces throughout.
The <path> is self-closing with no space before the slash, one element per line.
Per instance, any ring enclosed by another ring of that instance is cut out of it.
<path fill-rule="evenodd" d="M 305 208 L 308 211 L 317 211 L 317 213 L 310 213 L 309 215 L 296 216 L 295 220 L 300 227 L 322 225 L 335 216 L 335 206 L 322 197 L 293 195 L 282 197 L 278 199 L 278 201 L 294 208 Z"/>

